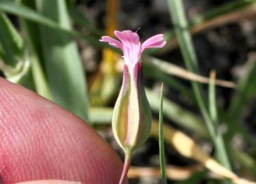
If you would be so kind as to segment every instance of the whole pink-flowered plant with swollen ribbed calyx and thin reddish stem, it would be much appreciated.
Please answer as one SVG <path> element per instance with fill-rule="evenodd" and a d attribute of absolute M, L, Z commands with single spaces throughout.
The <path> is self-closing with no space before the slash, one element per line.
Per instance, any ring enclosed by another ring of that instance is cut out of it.
<path fill-rule="evenodd" d="M 125 61 L 123 85 L 114 106 L 112 129 L 116 141 L 125 152 L 125 164 L 119 184 L 127 178 L 133 151 L 140 147 L 149 137 L 151 131 L 151 108 L 146 99 L 142 76 L 142 52 L 146 48 L 162 48 L 166 42 L 164 35 L 154 35 L 140 44 L 138 33 L 133 31 L 114 31 L 115 40 L 110 36 L 101 37 L 101 42 L 123 51 Z"/>

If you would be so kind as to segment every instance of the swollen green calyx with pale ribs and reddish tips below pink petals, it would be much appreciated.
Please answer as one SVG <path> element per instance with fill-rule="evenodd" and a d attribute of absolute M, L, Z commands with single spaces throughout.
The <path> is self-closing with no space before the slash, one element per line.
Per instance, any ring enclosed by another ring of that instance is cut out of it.
<path fill-rule="evenodd" d="M 112 118 L 114 136 L 125 152 L 140 147 L 151 131 L 151 109 L 146 99 L 140 62 L 124 67 L 123 85 Z"/>

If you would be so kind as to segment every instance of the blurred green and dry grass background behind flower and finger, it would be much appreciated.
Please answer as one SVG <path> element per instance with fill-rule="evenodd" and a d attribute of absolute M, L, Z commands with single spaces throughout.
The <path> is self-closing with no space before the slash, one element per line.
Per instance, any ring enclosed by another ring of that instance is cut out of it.
<path fill-rule="evenodd" d="M 161 183 L 162 130 L 167 183 L 248 183 L 241 177 L 256 180 L 255 2 L 1 0 L 0 74 L 77 114 L 121 153 L 110 123 L 123 61 L 99 38 L 164 33 L 168 44 L 142 58 L 154 120 L 130 183 Z"/>

